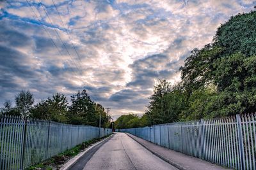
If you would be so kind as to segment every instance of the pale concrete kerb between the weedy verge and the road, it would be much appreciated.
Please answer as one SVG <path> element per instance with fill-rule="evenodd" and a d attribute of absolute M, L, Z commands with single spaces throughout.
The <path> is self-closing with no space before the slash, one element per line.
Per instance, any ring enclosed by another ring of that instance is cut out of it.
<path fill-rule="evenodd" d="M 84 150 L 83 152 L 78 153 L 78 155 L 76 155 L 72 159 L 68 160 L 68 162 L 63 164 L 63 166 L 61 166 L 60 170 L 68 170 L 68 169 L 70 169 L 70 167 L 72 167 L 74 164 L 76 164 L 81 159 L 81 157 L 83 157 L 83 155 L 86 154 L 89 150 L 91 150 L 95 146 L 99 145 L 100 143 L 106 141 L 107 139 L 111 138 L 113 135 L 114 134 L 111 134 L 111 136 L 109 136 L 108 138 L 103 139 L 102 141 L 99 141 L 99 142 L 93 144 L 92 146 L 86 148 L 86 150 Z"/>

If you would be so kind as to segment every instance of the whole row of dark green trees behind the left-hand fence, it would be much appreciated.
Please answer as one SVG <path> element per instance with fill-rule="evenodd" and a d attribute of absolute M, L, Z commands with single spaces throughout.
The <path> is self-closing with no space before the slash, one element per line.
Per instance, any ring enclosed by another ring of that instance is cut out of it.
<path fill-rule="evenodd" d="M 103 106 L 94 103 L 86 90 L 78 91 L 71 96 L 70 104 L 64 94 L 56 93 L 52 97 L 33 105 L 33 94 L 22 90 L 15 96 L 15 106 L 10 101 L 5 101 L 0 113 L 20 116 L 22 118 L 38 118 L 75 125 L 99 125 L 109 127 L 110 117 L 107 116 Z"/>

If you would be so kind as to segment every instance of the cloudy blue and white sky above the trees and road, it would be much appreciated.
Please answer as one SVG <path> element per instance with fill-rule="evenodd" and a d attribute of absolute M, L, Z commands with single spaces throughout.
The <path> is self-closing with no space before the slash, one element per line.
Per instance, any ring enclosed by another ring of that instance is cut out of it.
<path fill-rule="evenodd" d="M 0 106 L 86 89 L 111 115 L 143 113 L 160 79 L 180 81 L 193 48 L 211 43 L 253 0 L 0 0 Z"/>

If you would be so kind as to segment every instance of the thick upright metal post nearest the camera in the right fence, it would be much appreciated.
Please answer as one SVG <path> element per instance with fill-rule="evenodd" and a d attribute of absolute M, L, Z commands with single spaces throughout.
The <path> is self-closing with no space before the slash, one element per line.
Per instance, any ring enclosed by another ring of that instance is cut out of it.
<path fill-rule="evenodd" d="M 241 117 L 240 117 L 239 114 L 236 115 L 236 122 L 237 122 L 237 132 L 238 132 L 238 143 L 239 143 L 239 153 L 240 153 L 241 169 L 244 169 L 245 168 L 245 162 L 244 162 L 244 141 L 243 141 Z"/>

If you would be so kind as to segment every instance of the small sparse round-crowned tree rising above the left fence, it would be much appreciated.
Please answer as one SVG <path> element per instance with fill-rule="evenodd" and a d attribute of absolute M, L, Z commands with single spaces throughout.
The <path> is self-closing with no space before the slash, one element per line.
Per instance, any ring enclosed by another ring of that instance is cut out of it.
<path fill-rule="evenodd" d="M 15 96 L 15 103 L 22 118 L 26 118 L 29 116 L 29 111 L 34 103 L 33 94 L 29 91 L 22 90 Z"/>

